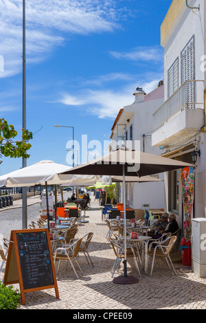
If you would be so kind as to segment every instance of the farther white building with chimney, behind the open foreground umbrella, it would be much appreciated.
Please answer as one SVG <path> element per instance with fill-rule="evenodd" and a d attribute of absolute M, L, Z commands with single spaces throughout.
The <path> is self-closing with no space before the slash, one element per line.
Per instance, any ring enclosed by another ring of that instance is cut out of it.
<path fill-rule="evenodd" d="M 115 148 L 117 142 L 122 140 L 139 141 L 140 151 L 151 154 L 160 154 L 159 147 L 154 148 L 151 144 L 152 114 L 163 104 L 164 85 L 159 82 L 157 89 L 148 93 L 141 87 L 135 93 L 135 102 L 124 109 L 120 109 L 111 129 L 111 148 Z M 135 148 L 135 147 L 134 147 Z M 163 175 L 157 175 L 163 179 Z M 142 216 L 144 211 L 141 205 L 150 204 L 151 209 L 164 208 L 164 185 L 158 183 L 128 183 L 126 201 L 130 208 L 137 212 L 137 217 Z"/>

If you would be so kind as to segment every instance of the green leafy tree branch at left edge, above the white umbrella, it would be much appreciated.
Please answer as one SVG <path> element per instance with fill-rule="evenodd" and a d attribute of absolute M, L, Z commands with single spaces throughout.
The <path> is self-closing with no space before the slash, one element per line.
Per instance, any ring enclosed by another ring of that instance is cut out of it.
<path fill-rule="evenodd" d="M 15 140 L 18 135 L 12 124 L 8 124 L 3 118 L 0 119 L 0 157 L 29 158 L 27 151 L 32 147 L 28 140 L 32 139 L 32 133 L 22 130 L 22 140 Z"/>

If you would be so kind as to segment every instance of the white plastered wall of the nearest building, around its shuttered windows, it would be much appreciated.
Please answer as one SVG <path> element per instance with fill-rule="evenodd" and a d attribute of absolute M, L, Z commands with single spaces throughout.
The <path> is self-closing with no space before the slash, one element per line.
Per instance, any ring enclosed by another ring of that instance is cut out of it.
<path fill-rule="evenodd" d="M 176 58 L 179 56 L 179 87 L 181 86 L 181 52 L 185 45 L 190 41 L 194 35 L 194 45 L 195 45 L 195 56 L 194 56 L 194 66 L 195 66 L 195 79 L 205 81 L 205 71 L 206 64 L 203 65 L 201 57 L 206 54 L 206 44 L 205 44 L 205 1 L 189 1 L 191 6 L 197 6 L 200 4 L 200 11 L 196 13 L 192 12 L 189 8 L 183 7 L 181 10 L 181 19 L 179 20 L 178 25 L 175 30 L 170 30 L 168 37 L 165 38 L 163 42 L 163 47 L 165 50 L 165 100 L 168 99 L 168 69 L 172 66 Z M 178 17 L 179 19 L 179 17 Z M 173 34 L 172 34 L 173 32 Z M 170 37 L 170 38 L 169 38 Z M 206 59 L 204 60 L 206 62 Z M 202 65 L 202 66 L 201 66 Z M 202 69 L 201 69 L 202 67 Z M 206 82 L 206 81 L 205 81 Z M 205 83 L 206 85 L 206 83 Z M 203 91 L 205 88 L 203 82 L 199 82 L 198 87 L 196 88 L 197 100 L 198 98 L 203 98 Z M 201 100 L 199 100 L 201 102 Z M 198 108 L 198 106 L 196 106 Z M 200 149 L 201 157 L 198 157 L 197 167 L 195 170 L 196 173 L 196 186 L 195 186 L 195 216 L 196 217 L 205 217 L 206 216 L 206 169 L 205 169 L 205 133 L 200 133 L 197 135 L 197 139 L 201 138 Z M 178 139 L 177 139 L 178 140 Z M 165 181 L 166 185 L 167 180 Z M 165 201 L 166 207 L 168 204 L 168 190 L 165 187 Z M 181 210 L 179 212 L 181 214 Z"/>

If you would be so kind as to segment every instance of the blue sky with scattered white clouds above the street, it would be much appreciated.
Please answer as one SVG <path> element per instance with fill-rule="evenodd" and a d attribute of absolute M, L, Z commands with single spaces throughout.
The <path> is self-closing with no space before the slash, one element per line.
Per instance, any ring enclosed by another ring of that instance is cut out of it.
<path fill-rule="evenodd" d="M 172 0 L 26 0 L 26 113 L 33 140 L 27 166 L 71 166 L 111 136 L 119 109 L 163 80 L 160 27 Z M 21 137 L 22 0 L 0 0 L 0 112 Z M 62 127 L 54 127 L 54 125 Z M 72 128 L 73 127 L 73 128 Z M 84 140 L 82 140 L 82 135 Z M 86 141 L 87 138 L 87 141 Z M 0 174 L 22 167 L 2 157 Z M 75 163 L 81 156 L 75 153 Z"/>

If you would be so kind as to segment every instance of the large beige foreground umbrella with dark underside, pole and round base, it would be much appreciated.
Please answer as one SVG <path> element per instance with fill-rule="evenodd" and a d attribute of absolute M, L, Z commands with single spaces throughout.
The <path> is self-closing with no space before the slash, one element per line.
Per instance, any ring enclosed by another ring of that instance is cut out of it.
<path fill-rule="evenodd" d="M 113 282 L 131 284 L 138 281 L 133 276 L 127 275 L 125 177 L 143 177 L 187 166 L 194 167 L 194 165 L 183 161 L 142 153 L 140 151 L 132 151 L 121 147 L 115 151 L 111 151 L 111 153 L 108 153 L 107 155 L 103 155 L 102 157 L 88 161 L 85 164 L 66 170 L 59 175 L 60 179 L 65 179 L 67 175 L 71 174 L 122 176 L 124 197 L 124 276 L 115 278 Z"/>

